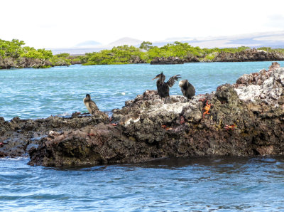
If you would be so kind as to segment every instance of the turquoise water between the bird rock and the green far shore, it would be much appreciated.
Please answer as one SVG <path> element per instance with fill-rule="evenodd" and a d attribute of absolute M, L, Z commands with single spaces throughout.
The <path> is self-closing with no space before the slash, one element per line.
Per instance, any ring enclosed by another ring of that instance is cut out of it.
<path fill-rule="evenodd" d="M 279 62 L 284 65 L 284 62 Z M 48 69 L 0 70 L 0 116 L 5 120 L 70 115 L 87 112 L 82 102 L 89 93 L 100 110 L 124 106 L 145 90 L 155 89 L 151 80 L 180 74 L 190 80 L 197 94 L 212 92 L 218 85 L 235 83 L 244 73 L 268 69 L 271 62 L 185 63 L 183 65 L 70 65 Z M 170 90 L 181 95 L 178 83 Z"/>

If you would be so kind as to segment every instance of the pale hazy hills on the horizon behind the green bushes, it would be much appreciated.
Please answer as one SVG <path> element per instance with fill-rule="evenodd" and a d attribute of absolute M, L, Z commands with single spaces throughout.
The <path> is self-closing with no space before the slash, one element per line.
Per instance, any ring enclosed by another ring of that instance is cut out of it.
<path fill-rule="evenodd" d="M 174 41 L 180 41 L 183 43 L 186 42 L 191 46 L 199 46 L 200 48 L 234 48 L 238 46 L 249 46 L 251 48 L 263 46 L 271 48 L 284 48 L 284 31 L 241 34 L 236 36 L 211 36 L 203 38 L 167 38 L 162 41 L 154 41 L 153 46 L 165 46 L 167 43 L 173 43 Z M 114 46 L 129 45 L 139 47 L 142 42 L 143 41 L 137 39 L 125 37 L 105 46 L 102 46 L 102 44 L 97 41 L 85 41 L 77 44 L 77 46 L 74 48 L 53 48 L 51 51 L 53 51 L 54 54 L 84 54 L 98 52 L 103 49 L 111 49 Z"/>

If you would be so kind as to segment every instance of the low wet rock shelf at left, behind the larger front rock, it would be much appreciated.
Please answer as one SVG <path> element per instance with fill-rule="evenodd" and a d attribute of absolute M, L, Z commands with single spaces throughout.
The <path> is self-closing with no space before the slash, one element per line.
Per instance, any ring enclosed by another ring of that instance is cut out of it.
<path fill-rule="evenodd" d="M 0 157 L 27 156 L 30 149 L 41 144 L 43 137 L 50 136 L 53 132 L 108 122 L 108 115 L 100 111 L 92 117 L 75 112 L 72 117 L 51 116 L 38 120 L 21 120 L 14 117 L 10 122 L 0 117 Z"/>

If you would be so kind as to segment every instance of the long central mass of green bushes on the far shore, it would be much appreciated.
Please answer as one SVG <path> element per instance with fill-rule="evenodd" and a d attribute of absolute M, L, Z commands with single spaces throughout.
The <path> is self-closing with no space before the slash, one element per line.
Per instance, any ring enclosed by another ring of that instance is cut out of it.
<path fill-rule="evenodd" d="M 188 43 L 168 43 L 165 46 L 152 46 L 149 41 L 143 41 L 139 48 L 134 46 L 118 46 L 111 50 L 86 53 L 80 60 L 83 65 L 106 65 L 106 64 L 126 64 L 133 63 L 133 60 L 151 63 L 153 58 L 178 57 L 180 59 L 197 58 L 198 61 L 212 61 L 219 53 L 236 53 L 250 49 L 246 46 L 238 48 L 200 48 L 190 46 Z"/>

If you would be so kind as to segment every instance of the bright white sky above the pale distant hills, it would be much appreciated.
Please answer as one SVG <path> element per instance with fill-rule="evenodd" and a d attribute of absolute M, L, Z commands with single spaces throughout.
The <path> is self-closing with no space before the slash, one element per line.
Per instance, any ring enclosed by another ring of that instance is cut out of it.
<path fill-rule="evenodd" d="M 283 31 L 283 0 L 2 0 L 0 38 L 35 48 Z"/>

